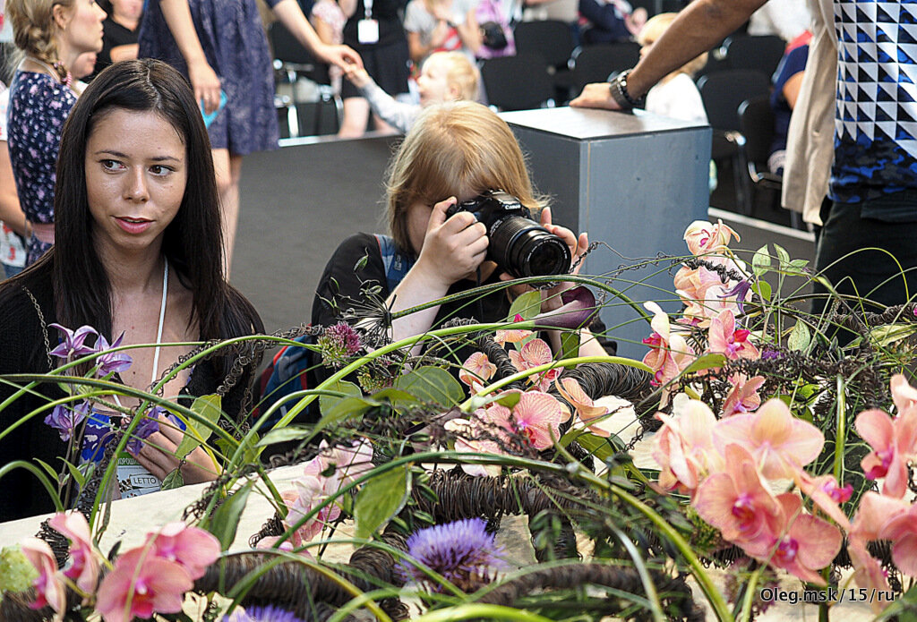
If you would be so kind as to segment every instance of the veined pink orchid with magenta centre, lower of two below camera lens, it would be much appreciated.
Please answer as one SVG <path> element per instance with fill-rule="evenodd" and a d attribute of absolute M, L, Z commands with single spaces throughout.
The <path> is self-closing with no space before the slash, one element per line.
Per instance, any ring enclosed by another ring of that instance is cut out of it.
<path fill-rule="evenodd" d="M 512 414 L 509 409 L 488 409 L 486 417 L 503 430 L 522 436 L 540 451 L 560 438 L 560 424 L 569 420 L 570 413 L 558 398 L 531 390 L 521 392 Z"/>

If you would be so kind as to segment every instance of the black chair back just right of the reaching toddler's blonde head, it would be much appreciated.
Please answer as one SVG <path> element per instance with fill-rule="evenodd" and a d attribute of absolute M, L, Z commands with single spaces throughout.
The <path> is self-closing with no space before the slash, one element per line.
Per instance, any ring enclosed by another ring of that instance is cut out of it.
<path fill-rule="evenodd" d="M 541 54 L 519 52 L 484 60 L 481 80 L 488 103 L 501 110 L 531 110 L 553 104 L 554 83 Z"/>

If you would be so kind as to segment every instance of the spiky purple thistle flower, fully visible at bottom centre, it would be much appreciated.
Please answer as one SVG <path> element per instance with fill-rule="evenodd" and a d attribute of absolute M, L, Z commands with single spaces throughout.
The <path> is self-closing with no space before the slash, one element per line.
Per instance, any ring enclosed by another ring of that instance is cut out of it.
<path fill-rule="evenodd" d="M 408 555 L 443 575 L 463 592 L 474 592 L 491 583 L 492 566 L 504 565 L 500 560 L 503 550 L 485 528 L 481 518 L 470 518 L 421 529 L 407 539 Z M 435 592 L 442 591 L 441 585 L 431 584 L 430 578 L 413 563 L 403 561 L 397 571 L 405 583 L 414 580 L 427 584 Z"/>

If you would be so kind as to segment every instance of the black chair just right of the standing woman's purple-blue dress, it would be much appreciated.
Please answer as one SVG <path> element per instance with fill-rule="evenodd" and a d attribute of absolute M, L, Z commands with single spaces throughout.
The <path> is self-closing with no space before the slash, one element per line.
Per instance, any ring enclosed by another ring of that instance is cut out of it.
<path fill-rule="evenodd" d="M 315 60 L 315 57 L 281 22 L 273 22 L 268 27 L 268 39 L 274 55 L 274 70 L 280 72 L 285 82 L 293 89 L 292 97 L 275 97 L 275 105 L 281 108 L 281 115 L 286 115 L 289 136 L 315 136 L 318 134 L 336 133 L 344 114 L 344 104 L 340 95 L 331 87 L 328 66 Z M 300 100 L 297 97 L 296 82 L 306 78 L 318 85 L 314 100 Z M 328 115 L 332 119 L 327 118 Z M 311 122 L 311 123 L 310 123 Z M 334 127 L 332 131 L 328 128 Z"/>

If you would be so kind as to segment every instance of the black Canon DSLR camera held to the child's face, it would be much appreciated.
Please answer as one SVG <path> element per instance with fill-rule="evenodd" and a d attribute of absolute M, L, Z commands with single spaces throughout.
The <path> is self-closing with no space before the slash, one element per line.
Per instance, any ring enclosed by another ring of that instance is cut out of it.
<path fill-rule="evenodd" d="M 487 227 L 487 258 L 515 278 L 569 271 L 569 246 L 532 220 L 532 213 L 512 194 L 486 191 L 476 199 L 453 205 L 446 216 L 459 212 L 473 213 Z"/>

